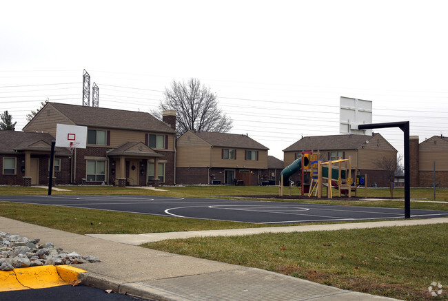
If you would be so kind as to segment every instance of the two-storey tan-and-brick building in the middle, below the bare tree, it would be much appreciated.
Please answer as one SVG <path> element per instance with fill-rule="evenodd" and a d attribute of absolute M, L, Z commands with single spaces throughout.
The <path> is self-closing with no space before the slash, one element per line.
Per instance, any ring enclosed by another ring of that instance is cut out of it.
<path fill-rule="evenodd" d="M 247 135 L 188 131 L 177 140 L 177 183 L 259 185 L 267 150 Z"/>

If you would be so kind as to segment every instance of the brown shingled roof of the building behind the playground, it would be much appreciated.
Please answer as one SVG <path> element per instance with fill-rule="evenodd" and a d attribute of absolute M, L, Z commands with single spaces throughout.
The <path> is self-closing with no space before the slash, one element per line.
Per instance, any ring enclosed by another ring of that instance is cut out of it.
<path fill-rule="evenodd" d="M 370 141 L 371 139 L 378 136 L 383 137 L 378 133 L 374 134 L 374 136 L 345 134 L 345 135 L 303 137 L 301 138 L 301 140 L 283 149 L 283 152 L 297 152 L 307 149 L 320 149 L 320 150 L 358 149 L 366 141 Z"/>

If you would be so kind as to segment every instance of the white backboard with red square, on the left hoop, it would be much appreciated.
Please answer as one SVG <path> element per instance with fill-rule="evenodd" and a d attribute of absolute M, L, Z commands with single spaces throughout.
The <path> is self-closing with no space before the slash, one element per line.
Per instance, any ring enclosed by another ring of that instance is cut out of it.
<path fill-rule="evenodd" d="M 87 144 L 87 127 L 78 125 L 56 125 L 56 146 L 85 148 Z"/>

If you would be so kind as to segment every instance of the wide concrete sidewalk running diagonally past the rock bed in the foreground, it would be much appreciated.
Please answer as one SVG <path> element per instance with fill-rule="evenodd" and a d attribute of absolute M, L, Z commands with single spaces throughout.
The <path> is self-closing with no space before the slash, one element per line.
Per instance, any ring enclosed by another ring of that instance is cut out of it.
<path fill-rule="evenodd" d="M 276 228 L 269 229 L 273 232 Z M 79 275 L 84 284 L 152 300 L 393 300 L 261 269 L 145 249 L 3 217 L 0 217 L 0 231 L 40 238 L 41 242 L 53 242 L 64 251 L 96 256 L 101 262 L 75 265 L 88 271 Z"/>

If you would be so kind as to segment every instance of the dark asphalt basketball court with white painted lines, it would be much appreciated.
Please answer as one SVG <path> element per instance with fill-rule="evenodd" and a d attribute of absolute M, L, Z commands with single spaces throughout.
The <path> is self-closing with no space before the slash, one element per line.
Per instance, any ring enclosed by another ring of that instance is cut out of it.
<path fill-rule="evenodd" d="M 379 220 L 405 216 L 405 209 L 397 208 L 165 196 L 0 196 L 0 201 L 258 224 Z M 411 209 L 411 218 L 443 216 L 448 216 L 448 211 Z"/>

